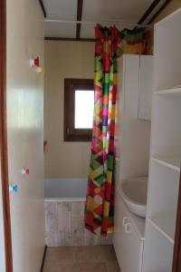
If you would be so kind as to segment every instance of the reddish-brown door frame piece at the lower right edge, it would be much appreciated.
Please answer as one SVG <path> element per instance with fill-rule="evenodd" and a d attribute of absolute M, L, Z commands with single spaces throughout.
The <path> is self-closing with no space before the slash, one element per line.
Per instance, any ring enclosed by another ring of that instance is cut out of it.
<path fill-rule="evenodd" d="M 176 236 L 174 246 L 174 260 L 172 272 L 181 271 L 181 168 L 180 168 L 180 185 L 177 203 L 177 216 L 176 216 Z"/>

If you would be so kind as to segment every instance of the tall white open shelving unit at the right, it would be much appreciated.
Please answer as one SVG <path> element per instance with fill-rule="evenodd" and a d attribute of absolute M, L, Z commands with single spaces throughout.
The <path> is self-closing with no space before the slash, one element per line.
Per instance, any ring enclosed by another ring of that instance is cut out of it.
<path fill-rule="evenodd" d="M 181 162 L 181 9 L 155 25 L 143 272 L 171 272 Z M 177 86 L 177 87 L 176 87 Z"/>

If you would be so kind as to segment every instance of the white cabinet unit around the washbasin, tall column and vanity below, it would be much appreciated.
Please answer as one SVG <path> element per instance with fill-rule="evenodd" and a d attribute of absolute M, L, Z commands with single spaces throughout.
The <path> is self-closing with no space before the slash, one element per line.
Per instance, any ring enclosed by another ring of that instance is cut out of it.
<path fill-rule="evenodd" d="M 150 69 L 152 65 L 152 57 L 127 54 L 119 59 L 118 64 L 116 195 L 113 244 L 121 272 L 141 272 L 145 219 L 134 216 L 129 212 L 119 195 L 119 186 L 122 180 L 129 177 L 148 175 L 150 121 L 138 119 L 138 101 L 140 73 L 144 77 L 143 73 L 148 72 L 148 68 Z M 144 66 L 146 66 L 145 72 Z M 140 72 L 140 69 L 142 72 Z M 146 82 L 141 86 L 142 92 L 147 86 Z M 124 218 L 128 218 L 126 219 L 127 222 L 125 222 L 128 224 L 126 227 L 123 226 Z"/>

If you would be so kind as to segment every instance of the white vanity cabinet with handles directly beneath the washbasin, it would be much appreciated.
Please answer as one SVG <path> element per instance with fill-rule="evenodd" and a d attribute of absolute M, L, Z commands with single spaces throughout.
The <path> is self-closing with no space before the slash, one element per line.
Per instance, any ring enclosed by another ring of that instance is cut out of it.
<path fill-rule="evenodd" d="M 128 225 L 123 226 L 123 221 Z M 127 208 L 118 195 L 113 241 L 121 272 L 141 272 L 143 241 L 138 239 L 128 218 Z"/>

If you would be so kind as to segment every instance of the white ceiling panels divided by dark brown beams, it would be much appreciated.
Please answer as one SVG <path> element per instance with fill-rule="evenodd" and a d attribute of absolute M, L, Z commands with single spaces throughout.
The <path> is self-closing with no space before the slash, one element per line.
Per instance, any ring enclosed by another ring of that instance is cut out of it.
<path fill-rule="evenodd" d="M 78 1 L 80 0 L 42 0 L 46 20 L 78 19 Z M 128 27 L 130 23 L 137 24 L 148 10 L 153 0 L 81 0 L 81 21 L 89 22 L 123 22 L 117 23 L 119 30 Z M 128 24 L 129 23 L 129 24 Z M 45 37 L 76 38 L 77 24 L 45 22 Z M 93 39 L 95 24 L 81 24 L 79 38 Z"/>

